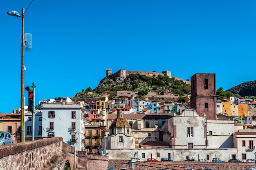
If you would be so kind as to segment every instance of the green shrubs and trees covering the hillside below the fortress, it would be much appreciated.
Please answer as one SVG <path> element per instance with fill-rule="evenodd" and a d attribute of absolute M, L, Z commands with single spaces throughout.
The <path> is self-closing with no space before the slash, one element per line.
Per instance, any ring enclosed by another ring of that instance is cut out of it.
<path fill-rule="evenodd" d="M 91 90 L 90 87 L 85 90 L 82 89 L 82 92 L 77 93 L 75 98 L 97 97 L 102 94 L 113 98 L 117 95 L 117 91 L 134 91 L 146 94 L 147 92 L 161 93 L 165 89 L 169 89 L 173 94 L 179 94 L 180 96 L 191 93 L 191 86 L 189 84 L 175 78 L 162 75 L 148 77 L 140 74 L 130 74 L 121 83 L 105 77 L 95 89 Z M 87 92 L 93 93 L 88 94 Z"/>

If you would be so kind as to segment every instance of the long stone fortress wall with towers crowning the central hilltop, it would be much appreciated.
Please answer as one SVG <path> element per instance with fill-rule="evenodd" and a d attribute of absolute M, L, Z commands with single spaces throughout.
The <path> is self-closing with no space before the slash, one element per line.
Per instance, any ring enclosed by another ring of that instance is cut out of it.
<path fill-rule="evenodd" d="M 126 79 L 126 77 L 129 76 L 130 74 L 141 74 L 141 75 L 145 75 L 148 77 L 152 77 L 153 75 L 155 75 L 156 77 L 158 75 L 162 75 L 162 76 L 169 76 L 170 78 L 172 78 L 170 71 L 163 71 L 162 73 L 157 73 L 157 72 L 128 71 L 125 69 L 120 69 L 117 72 L 112 74 L 112 69 L 106 69 L 106 77 L 110 78 L 116 82 L 124 81 L 124 79 Z M 176 78 L 176 77 L 174 77 L 174 78 L 191 85 L 190 81 L 186 81 L 186 80 L 183 80 L 181 78 Z"/>

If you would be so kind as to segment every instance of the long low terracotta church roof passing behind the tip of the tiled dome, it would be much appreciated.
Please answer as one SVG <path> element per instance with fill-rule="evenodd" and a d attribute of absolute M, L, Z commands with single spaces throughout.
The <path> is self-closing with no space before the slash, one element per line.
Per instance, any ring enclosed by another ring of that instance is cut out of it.
<path fill-rule="evenodd" d="M 116 119 L 117 114 L 107 114 L 108 119 Z M 173 114 L 123 114 L 125 119 L 170 119 Z"/>

